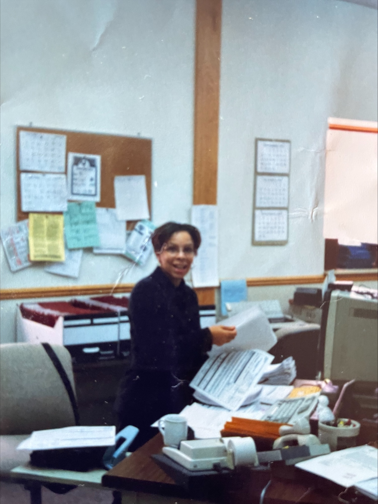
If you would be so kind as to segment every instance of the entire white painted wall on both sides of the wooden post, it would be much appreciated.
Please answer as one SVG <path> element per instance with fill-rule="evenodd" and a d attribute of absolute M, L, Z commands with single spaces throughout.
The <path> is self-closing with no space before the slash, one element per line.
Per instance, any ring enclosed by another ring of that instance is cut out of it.
<path fill-rule="evenodd" d="M 16 218 L 15 127 L 30 122 L 151 138 L 153 220 L 187 221 L 195 1 L 1 0 L 0 6 L 1 227 Z M 322 273 L 327 117 L 377 119 L 376 31 L 374 10 L 336 0 L 223 0 L 221 278 Z M 292 142 L 285 246 L 251 245 L 256 137 Z M 0 249 L 2 288 L 111 283 L 128 264 L 86 253 L 79 279 L 71 281 L 35 266 L 11 273 Z M 134 268 L 123 281 L 137 281 L 155 264 Z M 274 295 L 284 304 L 294 288 L 253 288 L 248 295 Z M 13 341 L 16 303 L 0 308 L 1 341 Z"/>

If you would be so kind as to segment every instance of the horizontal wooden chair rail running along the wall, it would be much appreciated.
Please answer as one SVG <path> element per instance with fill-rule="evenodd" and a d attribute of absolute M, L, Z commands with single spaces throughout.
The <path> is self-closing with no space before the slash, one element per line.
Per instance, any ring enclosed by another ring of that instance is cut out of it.
<path fill-rule="evenodd" d="M 325 275 L 304 275 L 292 277 L 262 277 L 247 278 L 248 287 L 262 287 L 269 285 L 303 285 L 323 283 Z M 378 270 L 337 271 L 338 280 L 352 280 L 353 282 L 368 282 L 378 280 Z M 93 296 L 101 294 L 120 294 L 131 292 L 134 284 L 102 284 L 102 285 L 65 285 L 61 287 L 34 287 L 27 289 L 1 289 L 0 300 L 32 299 L 44 297 Z M 213 287 L 195 289 L 200 304 L 213 304 Z"/>

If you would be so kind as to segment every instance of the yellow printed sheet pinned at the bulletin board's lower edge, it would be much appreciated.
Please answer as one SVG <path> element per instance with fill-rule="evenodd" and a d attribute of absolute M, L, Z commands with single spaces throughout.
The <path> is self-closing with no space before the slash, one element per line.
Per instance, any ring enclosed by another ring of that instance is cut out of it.
<path fill-rule="evenodd" d="M 29 249 L 31 261 L 64 261 L 63 216 L 29 214 Z"/>

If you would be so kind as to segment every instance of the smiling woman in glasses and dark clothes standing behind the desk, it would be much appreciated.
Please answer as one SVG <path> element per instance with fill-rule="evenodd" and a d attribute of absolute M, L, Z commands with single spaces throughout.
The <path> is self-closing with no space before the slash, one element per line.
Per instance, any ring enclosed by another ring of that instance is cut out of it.
<path fill-rule="evenodd" d="M 235 327 L 201 329 L 197 295 L 183 278 L 201 244 L 197 228 L 167 222 L 152 235 L 160 266 L 136 284 L 130 297 L 131 370 L 121 380 L 114 409 L 118 430 L 140 429 L 136 449 L 156 434 L 150 425 L 192 402 L 189 383 L 212 344 L 236 336 Z"/>

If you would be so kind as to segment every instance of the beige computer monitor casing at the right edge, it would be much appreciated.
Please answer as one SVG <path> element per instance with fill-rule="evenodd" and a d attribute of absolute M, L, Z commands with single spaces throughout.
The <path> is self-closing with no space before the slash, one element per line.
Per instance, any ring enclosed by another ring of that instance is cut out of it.
<path fill-rule="evenodd" d="M 377 341 L 377 299 L 334 290 L 327 320 L 324 377 L 376 382 Z"/>

